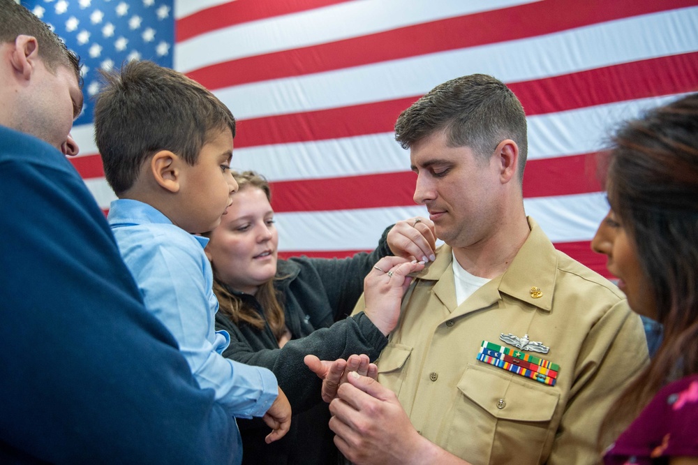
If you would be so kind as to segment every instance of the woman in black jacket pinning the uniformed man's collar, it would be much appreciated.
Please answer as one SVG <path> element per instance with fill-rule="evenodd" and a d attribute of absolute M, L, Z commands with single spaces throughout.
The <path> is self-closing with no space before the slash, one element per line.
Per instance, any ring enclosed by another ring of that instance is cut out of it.
<path fill-rule="evenodd" d="M 274 372 L 294 414 L 288 434 L 269 445 L 263 422 L 238 420 L 243 463 L 333 463 L 336 448 L 327 425 L 329 408 L 320 394 L 322 380 L 306 367 L 304 357 L 335 360 L 362 354 L 348 360 L 349 369 L 365 374 L 369 359 L 375 360 L 387 344 L 399 307 L 385 314 L 367 304 L 365 312 L 348 317 L 364 290 L 364 277 L 387 274 L 406 286 L 406 275 L 424 266 L 413 258 L 433 260 L 433 223 L 419 217 L 399 221 L 385 230 L 371 253 L 279 260 L 267 180 L 251 171 L 233 175 L 239 190 L 221 225 L 208 234 L 206 247 L 220 304 L 216 330 L 230 333 L 225 357 Z"/>

